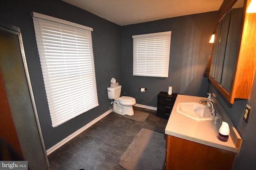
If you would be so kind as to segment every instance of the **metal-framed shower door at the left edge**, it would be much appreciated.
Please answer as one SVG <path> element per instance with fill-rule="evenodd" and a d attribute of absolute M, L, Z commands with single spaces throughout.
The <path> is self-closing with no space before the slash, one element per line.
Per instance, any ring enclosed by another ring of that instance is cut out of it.
<path fill-rule="evenodd" d="M 1 87 L 6 93 L 5 99 L 0 100 L 0 119 L 7 121 L 4 115 L 11 114 L 7 117 L 10 122 L 12 119 L 14 124 L 12 129 L 7 125 L 1 125 L 1 131 L 17 136 L 16 139 L 8 139 L 10 141 L 6 143 L 13 148 L 17 147 L 16 152 L 20 152 L 21 149 L 20 159 L 28 161 L 29 169 L 47 170 L 48 158 L 38 121 L 22 37 L 17 27 L 0 24 L 0 73 Z M 0 95 L 3 96 L 2 93 Z M 8 109 L 5 108 L 8 107 L 9 111 L 6 111 Z M 20 149 L 17 145 L 20 145 Z"/>

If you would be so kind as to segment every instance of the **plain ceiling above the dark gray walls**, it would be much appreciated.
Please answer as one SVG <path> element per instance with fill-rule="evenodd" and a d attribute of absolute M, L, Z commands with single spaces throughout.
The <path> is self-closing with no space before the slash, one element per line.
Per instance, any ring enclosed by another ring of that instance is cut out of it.
<path fill-rule="evenodd" d="M 63 0 L 118 25 L 218 11 L 223 0 Z"/>

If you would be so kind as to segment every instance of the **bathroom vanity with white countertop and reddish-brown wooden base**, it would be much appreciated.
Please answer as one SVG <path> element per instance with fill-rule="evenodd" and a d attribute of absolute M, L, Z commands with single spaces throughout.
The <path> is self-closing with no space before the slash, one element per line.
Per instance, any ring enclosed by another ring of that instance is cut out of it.
<path fill-rule="evenodd" d="M 178 95 L 166 125 L 166 170 L 231 170 L 242 139 L 226 115 L 222 120 L 230 127 L 227 142 L 218 139 L 220 125 L 210 121 L 196 121 L 176 112 L 181 102 L 199 102 L 196 96 Z"/>

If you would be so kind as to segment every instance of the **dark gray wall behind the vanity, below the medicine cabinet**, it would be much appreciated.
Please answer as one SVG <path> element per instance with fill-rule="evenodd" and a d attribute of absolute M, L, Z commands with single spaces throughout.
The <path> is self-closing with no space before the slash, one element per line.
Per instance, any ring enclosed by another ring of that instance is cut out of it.
<path fill-rule="evenodd" d="M 230 3 L 232 3 L 232 0 L 224 0 L 219 10 L 220 15 L 223 15 L 226 8 L 230 7 Z M 254 120 L 256 120 L 256 75 L 254 76 L 249 100 L 235 99 L 234 104 L 230 104 L 211 83 L 209 84 L 208 92 L 216 94 L 217 99 L 228 113 L 228 116 L 243 140 L 240 152 L 236 155 L 233 170 L 255 170 L 256 124 L 254 123 Z M 252 108 L 248 124 L 243 120 L 246 104 Z"/>

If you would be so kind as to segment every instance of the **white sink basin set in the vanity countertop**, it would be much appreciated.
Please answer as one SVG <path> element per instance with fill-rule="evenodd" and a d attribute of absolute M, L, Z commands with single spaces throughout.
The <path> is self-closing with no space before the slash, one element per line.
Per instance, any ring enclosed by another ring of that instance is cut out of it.
<path fill-rule="evenodd" d="M 208 106 L 196 102 L 178 103 L 176 111 L 196 121 L 205 121 L 212 118 L 212 113 L 208 109 Z"/>

